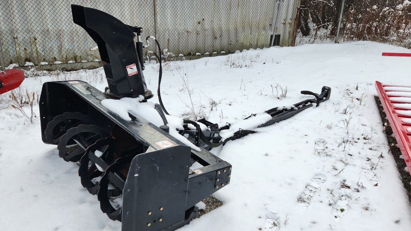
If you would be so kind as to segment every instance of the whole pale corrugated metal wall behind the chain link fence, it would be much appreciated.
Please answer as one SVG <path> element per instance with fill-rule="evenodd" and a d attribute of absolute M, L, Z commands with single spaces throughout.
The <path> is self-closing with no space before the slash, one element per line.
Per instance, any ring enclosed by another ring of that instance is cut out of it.
<path fill-rule="evenodd" d="M 157 0 L 157 38 L 174 55 L 270 46 L 280 0 Z M 277 27 L 289 41 L 296 0 L 281 0 Z M 71 4 L 105 11 L 155 34 L 153 0 L 2 0 L 0 45 L 6 66 L 99 59 L 94 41 L 72 22 Z M 288 26 L 289 24 L 289 26 Z M 282 39 L 283 39 L 282 38 Z"/>

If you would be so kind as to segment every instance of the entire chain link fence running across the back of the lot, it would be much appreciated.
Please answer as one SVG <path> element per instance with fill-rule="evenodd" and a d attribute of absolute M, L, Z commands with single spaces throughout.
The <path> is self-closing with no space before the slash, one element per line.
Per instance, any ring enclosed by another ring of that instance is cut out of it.
<path fill-rule="evenodd" d="M 128 25 L 143 27 L 142 38 L 154 35 L 165 56 L 203 57 L 250 48 L 334 43 L 342 2 L 3 0 L 0 66 L 101 66 L 95 42 L 72 21 L 71 4 L 99 9 Z M 400 46 L 411 43 L 408 0 L 346 0 L 344 6 L 340 41 L 373 40 Z M 155 48 L 150 45 L 150 49 Z"/>

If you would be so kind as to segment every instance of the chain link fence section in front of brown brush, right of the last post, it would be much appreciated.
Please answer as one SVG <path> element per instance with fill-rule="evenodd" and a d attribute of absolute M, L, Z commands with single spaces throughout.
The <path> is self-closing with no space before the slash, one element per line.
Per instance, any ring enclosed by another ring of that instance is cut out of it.
<path fill-rule="evenodd" d="M 346 0 L 342 41 L 370 40 L 411 48 L 411 1 Z"/>

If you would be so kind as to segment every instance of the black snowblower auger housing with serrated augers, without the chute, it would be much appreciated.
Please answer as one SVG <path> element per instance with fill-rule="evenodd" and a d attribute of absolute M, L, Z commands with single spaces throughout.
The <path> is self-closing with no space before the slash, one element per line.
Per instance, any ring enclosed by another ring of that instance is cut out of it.
<path fill-rule="evenodd" d="M 199 201 L 229 184 L 228 162 L 191 150 L 135 112 L 122 119 L 102 106 L 106 98 L 86 82 L 44 83 L 42 140 L 57 144 L 64 160 L 80 161 L 81 184 L 122 231 L 177 229 L 198 216 Z M 194 162 L 203 167 L 190 169 Z M 121 196 L 117 208 L 110 200 Z"/>

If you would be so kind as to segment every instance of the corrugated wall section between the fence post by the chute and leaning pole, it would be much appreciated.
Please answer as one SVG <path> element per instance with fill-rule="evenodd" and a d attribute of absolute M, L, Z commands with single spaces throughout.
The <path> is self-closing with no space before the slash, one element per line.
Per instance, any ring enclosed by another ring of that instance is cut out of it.
<path fill-rule="evenodd" d="M 174 55 L 268 47 L 273 1 L 158 0 L 158 39 Z"/>

